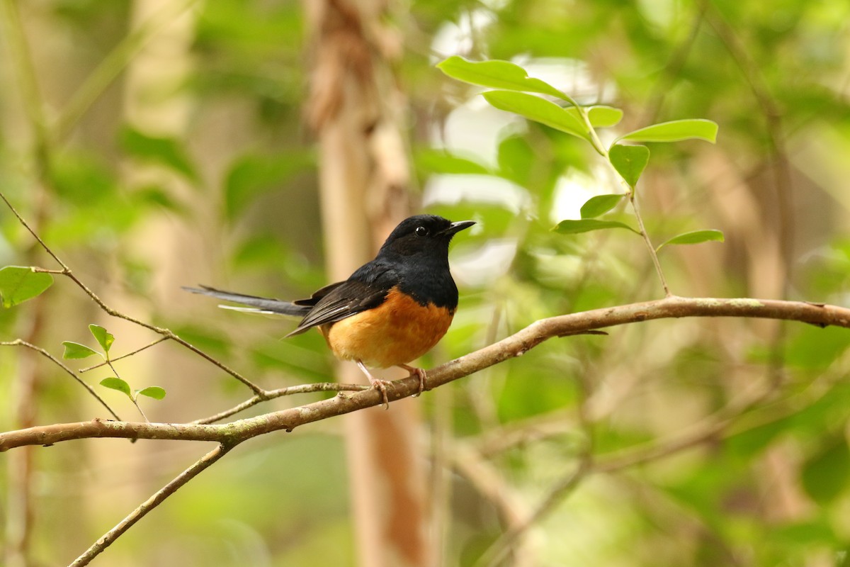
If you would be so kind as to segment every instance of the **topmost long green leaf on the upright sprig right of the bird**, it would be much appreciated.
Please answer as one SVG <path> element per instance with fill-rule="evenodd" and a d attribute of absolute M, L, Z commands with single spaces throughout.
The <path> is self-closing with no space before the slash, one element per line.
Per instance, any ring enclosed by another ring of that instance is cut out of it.
<path fill-rule="evenodd" d="M 548 82 L 529 77 L 528 71 L 510 61 L 470 61 L 453 55 L 442 63 L 438 63 L 437 68 L 453 79 L 473 85 L 526 93 L 551 94 L 558 99 L 572 102 L 569 96 Z"/>

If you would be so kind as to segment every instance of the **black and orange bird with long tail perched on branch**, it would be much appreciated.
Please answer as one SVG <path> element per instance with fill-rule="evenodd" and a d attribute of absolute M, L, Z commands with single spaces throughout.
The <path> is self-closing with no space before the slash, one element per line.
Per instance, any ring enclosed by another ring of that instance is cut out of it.
<path fill-rule="evenodd" d="M 348 280 L 322 287 L 309 299 L 288 302 L 207 286 L 184 289 L 250 306 L 230 309 L 302 317 L 286 337 L 317 327 L 337 358 L 357 363 L 383 395 L 386 408 L 390 382 L 373 377 L 367 366 L 400 366 L 419 377 L 422 393 L 425 371 L 407 363 L 433 349 L 449 330 L 457 309 L 449 242 L 473 224 L 429 214 L 405 218 L 374 260 L 360 266 Z"/>

